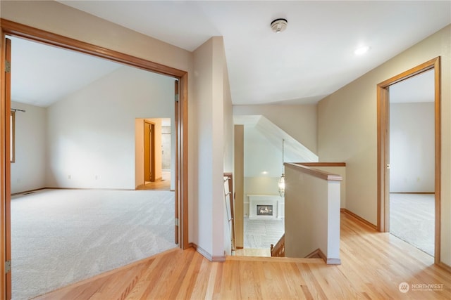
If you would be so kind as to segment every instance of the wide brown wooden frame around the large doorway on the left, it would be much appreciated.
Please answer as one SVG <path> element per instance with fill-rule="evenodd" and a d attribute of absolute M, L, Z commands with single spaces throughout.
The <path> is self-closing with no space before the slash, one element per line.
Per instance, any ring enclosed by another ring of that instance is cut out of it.
<path fill-rule="evenodd" d="M 39 30 L 35 27 L 20 24 L 10 20 L 0 19 L 0 35 L 1 35 L 1 55 L 4 57 L 5 45 L 4 40 L 6 35 L 13 37 L 20 37 L 37 41 L 50 46 L 56 46 L 59 48 L 65 48 L 72 51 L 78 51 L 80 53 L 97 56 L 99 58 L 106 58 L 113 60 L 117 63 L 129 65 L 131 67 L 137 67 L 142 70 L 154 72 L 158 74 L 167 75 L 178 79 L 179 82 L 179 96 L 178 101 L 175 101 L 175 214 L 178 216 L 178 236 L 179 247 L 187 249 L 190 247 L 188 242 L 188 73 L 183 70 L 178 70 L 173 67 L 154 63 L 149 60 L 130 56 L 125 53 L 113 51 L 101 46 L 88 44 L 84 41 L 78 41 L 71 39 L 70 37 L 64 37 L 59 34 Z M 5 62 L 2 59 L 0 61 L 0 67 L 4 70 Z M 1 95 L 0 95 L 0 114 L 1 119 L 9 119 L 9 108 L 11 101 L 6 100 L 5 97 L 5 84 L 4 84 L 4 72 L 1 74 Z M 7 115 L 6 115 L 7 114 Z M 8 121 L 6 121 L 8 122 Z M 6 130 L 6 122 L 0 124 L 0 147 L 4 149 L 6 145 L 6 138 L 9 136 L 8 130 Z M 5 123 L 5 124 L 3 124 Z M 7 191 L 11 187 L 11 174 L 8 173 L 10 157 L 6 157 L 5 151 L 1 151 L 0 159 L 0 290 L 6 291 L 6 275 L 5 275 L 5 258 L 6 258 L 6 214 L 10 214 L 10 211 L 5 207 L 6 200 L 11 199 L 11 195 L 8 195 Z M 3 299 L 6 295 L 1 294 L 0 299 Z"/>

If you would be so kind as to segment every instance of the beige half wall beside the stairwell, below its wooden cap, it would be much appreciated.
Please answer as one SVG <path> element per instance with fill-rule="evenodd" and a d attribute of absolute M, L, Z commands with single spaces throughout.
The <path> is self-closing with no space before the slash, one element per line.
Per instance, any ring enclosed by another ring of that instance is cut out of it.
<path fill-rule="evenodd" d="M 340 181 L 289 164 L 285 176 L 285 256 L 305 257 L 321 249 L 328 263 L 339 263 Z"/>

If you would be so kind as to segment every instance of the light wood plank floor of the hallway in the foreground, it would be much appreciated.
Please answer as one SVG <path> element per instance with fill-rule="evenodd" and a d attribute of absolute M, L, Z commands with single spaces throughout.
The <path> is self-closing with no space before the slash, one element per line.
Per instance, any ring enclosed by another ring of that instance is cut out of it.
<path fill-rule="evenodd" d="M 431 256 L 344 213 L 340 231 L 340 266 L 174 249 L 38 299 L 451 299 L 451 273 Z"/>

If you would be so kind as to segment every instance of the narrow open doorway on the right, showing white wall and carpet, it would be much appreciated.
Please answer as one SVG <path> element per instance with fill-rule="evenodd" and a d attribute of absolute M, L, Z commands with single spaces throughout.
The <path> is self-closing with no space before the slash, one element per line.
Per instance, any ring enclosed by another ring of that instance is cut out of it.
<path fill-rule="evenodd" d="M 389 92 L 390 233 L 434 256 L 434 72 Z"/>

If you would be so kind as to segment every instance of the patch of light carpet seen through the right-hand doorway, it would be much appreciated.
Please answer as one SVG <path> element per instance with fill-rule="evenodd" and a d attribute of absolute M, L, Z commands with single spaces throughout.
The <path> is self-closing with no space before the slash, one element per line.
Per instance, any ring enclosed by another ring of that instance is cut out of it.
<path fill-rule="evenodd" d="M 390 233 L 434 255 L 435 196 L 390 194 Z"/>

